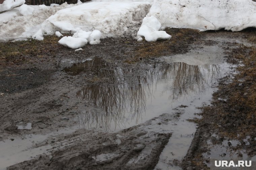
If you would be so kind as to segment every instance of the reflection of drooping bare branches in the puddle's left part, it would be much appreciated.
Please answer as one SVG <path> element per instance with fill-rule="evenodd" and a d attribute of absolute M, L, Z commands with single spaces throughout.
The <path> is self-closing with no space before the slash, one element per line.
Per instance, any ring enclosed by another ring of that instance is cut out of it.
<path fill-rule="evenodd" d="M 118 87 L 88 85 L 77 92 L 77 97 L 92 101 L 93 107 L 99 107 L 103 112 L 96 114 L 93 111 L 86 111 L 81 119 L 84 119 L 84 125 L 87 127 L 96 123 L 97 126 L 108 130 L 111 122 L 114 122 L 115 128 L 116 126 L 125 127 L 125 116 L 131 116 L 138 121 L 141 114 L 145 112 L 145 91 L 144 86 L 140 84 L 134 87 L 128 87 L 125 84 Z"/>

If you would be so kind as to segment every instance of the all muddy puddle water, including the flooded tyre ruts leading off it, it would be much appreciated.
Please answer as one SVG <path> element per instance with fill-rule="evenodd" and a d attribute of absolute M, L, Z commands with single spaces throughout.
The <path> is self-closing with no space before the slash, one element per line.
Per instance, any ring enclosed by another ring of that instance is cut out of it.
<path fill-rule="evenodd" d="M 40 154 L 47 155 L 53 148 L 50 143 L 55 135 L 82 128 L 113 133 L 163 114 L 172 119 L 145 128 L 146 131 L 172 133 L 155 169 L 170 166 L 180 169 L 179 163 L 196 131 L 196 124 L 188 119 L 198 117 L 198 107 L 210 104 L 218 80 L 234 67 L 224 61 L 223 50 L 218 46 L 164 56 L 157 61 L 141 62 L 136 67 L 98 57 L 65 60 L 60 66 L 67 78 L 79 79 L 82 84 L 74 95 L 84 105 L 82 113 L 74 119 L 77 124 L 47 135 L 31 134 L 23 139 L 0 141 L 0 169 Z M 83 77 L 91 77 L 91 81 Z M 30 129 L 31 123 L 21 122 L 17 127 Z M 44 142 L 41 146 L 46 139 L 50 143 Z M 105 155 L 95 160 L 102 157 Z"/>

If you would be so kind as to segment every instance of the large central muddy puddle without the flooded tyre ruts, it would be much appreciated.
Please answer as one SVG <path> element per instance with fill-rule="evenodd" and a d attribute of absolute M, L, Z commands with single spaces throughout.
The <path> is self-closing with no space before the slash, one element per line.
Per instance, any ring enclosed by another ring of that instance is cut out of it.
<path fill-rule="evenodd" d="M 80 128 L 119 131 L 163 113 L 197 113 L 197 107 L 209 104 L 218 80 L 232 67 L 222 52 L 218 46 L 205 46 L 137 68 L 116 66 L 101 58 L 65 67 L 69 75 L 93 75 L 95 79 L 76 93 L 88 106 L 78 115 Z"/>

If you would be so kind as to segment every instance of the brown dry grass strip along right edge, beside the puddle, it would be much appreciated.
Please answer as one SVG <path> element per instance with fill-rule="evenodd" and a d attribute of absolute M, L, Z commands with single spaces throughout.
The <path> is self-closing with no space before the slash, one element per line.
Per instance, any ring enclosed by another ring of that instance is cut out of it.
<path fill-rule="evenodd" d="M 239 51 L 232 57 L 242 60 L 244 65 L 237 67 L 239 73 L 231 83 L 220 83 L 219 91 L 213 95 L 214 108 L 204 108 L 202 122 L 211 119 L 221 136 L 237 138 L 239 134 L 238 139 L 243 139 L 248 135 L 256 137 L 256 48 L 242 46 Z M 227 101 L 223 103 L 218 98 Z M 210 114 L 216 118 L 212 119 Z"/>

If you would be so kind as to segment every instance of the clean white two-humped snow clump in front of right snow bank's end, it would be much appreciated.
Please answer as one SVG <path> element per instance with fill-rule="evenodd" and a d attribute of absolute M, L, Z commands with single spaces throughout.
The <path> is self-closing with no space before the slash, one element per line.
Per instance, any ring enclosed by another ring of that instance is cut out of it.
<path fill-rule="evenodd" d="M 158 41 L 158 40 L 169 40 L 171 36 L 165 31 L 159 31 L 161 28 L 161 23 L 154 16 L 146 16 L 142 20 L 141 27 L 137 33 L 137 37 L 145 37 L 148 42 Z"/>

